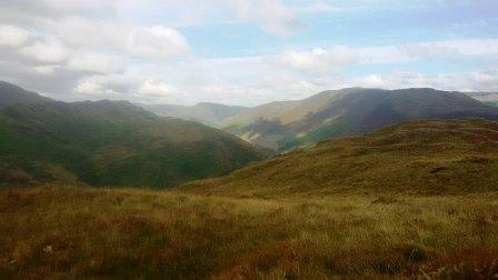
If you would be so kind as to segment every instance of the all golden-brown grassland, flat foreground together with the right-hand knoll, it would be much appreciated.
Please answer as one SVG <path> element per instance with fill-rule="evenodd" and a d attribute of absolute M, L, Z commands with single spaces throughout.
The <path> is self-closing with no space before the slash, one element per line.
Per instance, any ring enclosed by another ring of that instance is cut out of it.
<path fill-rule="evenodd" d="M 414 121 L 169 191 L 3 190 L 0 278 L 490 278 L 497 130 Z"/>

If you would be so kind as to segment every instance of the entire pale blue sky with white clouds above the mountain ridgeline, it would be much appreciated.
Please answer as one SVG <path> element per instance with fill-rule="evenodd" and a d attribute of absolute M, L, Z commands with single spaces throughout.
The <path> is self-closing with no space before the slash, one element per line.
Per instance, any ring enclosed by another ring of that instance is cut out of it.
<path fill-rule="evenodd" d="M 498 91 L 497 0 L 0 0 L 0 80 L 63 100 L 257 106 Z"/>

